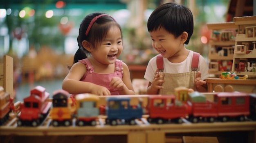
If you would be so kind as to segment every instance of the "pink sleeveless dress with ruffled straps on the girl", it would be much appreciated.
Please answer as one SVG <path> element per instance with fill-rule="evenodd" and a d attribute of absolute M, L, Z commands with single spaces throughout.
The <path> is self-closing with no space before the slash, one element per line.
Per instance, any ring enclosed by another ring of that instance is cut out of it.
<path fill-rule="evenodd" d="M 117 88 L 111 88 L 109 86 L 110 81 L 113 77 L 120 77 L 123 78 L 123 62 L 119 59 L 115 62 L 115 72 L 114 73 L 94 73 L 94 67 L 91 65 L 90 61 L 88 59 L 82 59 L 78 62 L 81 62 L 86 65 L 87 72 L 85 75 L 80 79 L 80 81 L 86 81 L 91 82 L 93 84 L 97 84 L 100 86 L 104 86 L 108 88 L 108 90 L 111 92 L 111 95 L 119 95 L 119 92 Z"/>

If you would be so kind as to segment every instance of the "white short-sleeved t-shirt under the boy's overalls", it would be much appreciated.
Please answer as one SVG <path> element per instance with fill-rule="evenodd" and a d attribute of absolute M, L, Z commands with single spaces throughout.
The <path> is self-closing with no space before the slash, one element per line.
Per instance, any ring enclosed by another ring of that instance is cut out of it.
<path fill-rule="evenodd" d="M 171 63 L 170 61 L 168 61 L 167 58 L 163 58 L 164 59 L 164 73 L 186 73 L 186 72 L 190 72 L 191 71 L 192 57 L 193 57 L 193 51 L 189 50 L 188 57 L 183 62 L 180 62 L 180 63 Z M 155 76 L 155 71 L 157 69 L 157 61 L 156 60 L 157 60 L 157 56 L 155 56 L 155 57 L 153 57 L 152 59 L 149 60 L 148 66 L 146 68 L 146 72 L 145 72 L 145 75 L 144 75 L 144 78 L 146 80 L 148 80 L 149 82 L 151 82 L 151 83 L 153 81 L 153 78 Z M 209 77 L 208 70 L 209 70 L 209 68 L 208 68 L 208 65 L 207 65 L 204 57 L 202 57 L 202 55 L 200 55 L 197 71 L 201 72 L 202 80 Z"/>

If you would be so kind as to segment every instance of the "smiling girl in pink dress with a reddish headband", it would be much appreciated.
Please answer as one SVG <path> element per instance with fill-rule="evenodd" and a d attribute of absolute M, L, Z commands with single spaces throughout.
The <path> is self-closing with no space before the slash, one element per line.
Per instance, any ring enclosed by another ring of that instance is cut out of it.
<path fill-rule="evenodd" d="M 121 27 L 114 18 L 105 13 L 87 15 L 80 24 L 77 42 L 79 49 L 63 80 L 63 90 L 74 95 L 135 94 L 128 66 L 117 59 L 123 44 Z"/>

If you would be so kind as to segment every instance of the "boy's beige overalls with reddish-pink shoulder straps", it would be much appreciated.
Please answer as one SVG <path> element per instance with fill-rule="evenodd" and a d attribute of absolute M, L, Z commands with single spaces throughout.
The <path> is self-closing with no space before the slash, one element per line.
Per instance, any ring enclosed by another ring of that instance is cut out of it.
<path fill-rule="evenodd" d="M 198 69 L 199 55 L 200 55 L 199 53 L 194 52 L 190 72 L 164 73 L 165 82 L 162 84 L 164 88 L 160 89 L 158 94 L 159 95 L 174 94 L 174 89 L 177 87 L 186 87 L 186 88 L 192 88 L 196 90 L 194 86 L 194 80 L 195 80 L 196 70 Z M 163 61 L 161 60 L 160 57 L 159 59 L 157 58 L 157 68 L 159 68 L 159 71 L 164 69 Z"/>

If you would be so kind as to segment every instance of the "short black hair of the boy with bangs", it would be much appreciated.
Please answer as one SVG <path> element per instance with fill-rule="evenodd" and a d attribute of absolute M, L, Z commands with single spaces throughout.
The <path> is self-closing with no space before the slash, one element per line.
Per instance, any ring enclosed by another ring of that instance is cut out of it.
<path fill-rule="evenodd" d="M 164 28 L 175 37 L 184 31 L 188 33 L 185 44 L 189 44 L 193 34 L 193 15 L 188 7 L 181 4 L 165 3 L 157 7 L 148 18 L 148 32 Z"/>

